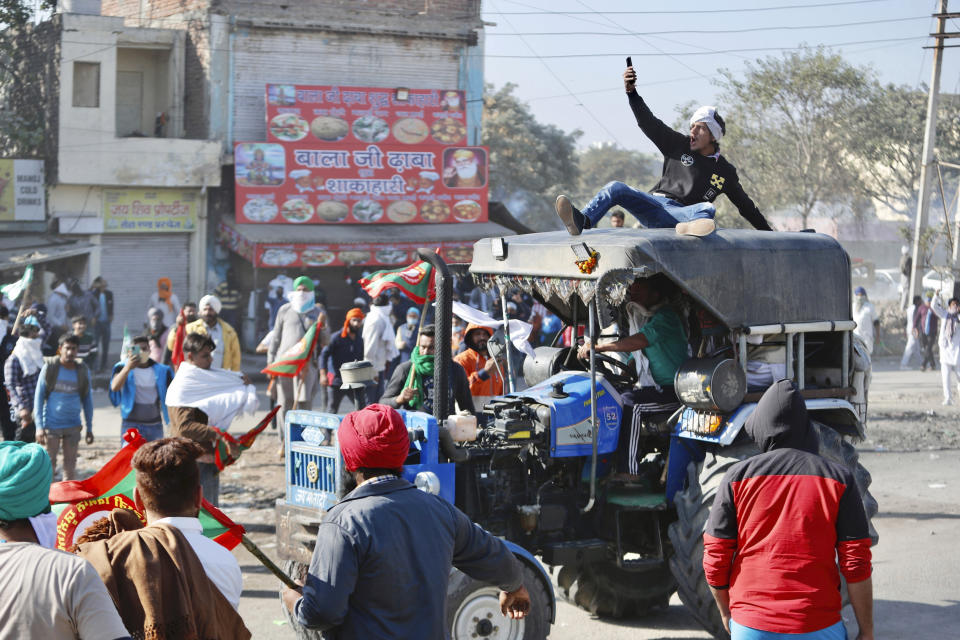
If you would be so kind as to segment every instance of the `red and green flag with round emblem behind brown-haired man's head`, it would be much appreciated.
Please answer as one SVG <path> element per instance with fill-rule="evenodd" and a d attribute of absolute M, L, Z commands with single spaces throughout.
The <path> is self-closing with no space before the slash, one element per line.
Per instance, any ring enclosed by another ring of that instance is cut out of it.
<path fill-rule="evenodd" d="M 130 466 L 133 454 L 146 444 L 136 429 L 127 431 L 123 439 L 127 445 L 86 480 L 65 480 L 50 485 L 50 505 L 57 514 L 57 548 L 69 551 L 73 541 L 94 521 L 106 517 L 115 508 L 136 511 L 133 489 L 136 472 Z M 213 538 L 227 549 L 240 544 L 244 529 L 222 511 L 204 500 L 197 516 L 203 525 L 203 535 Z"/>

